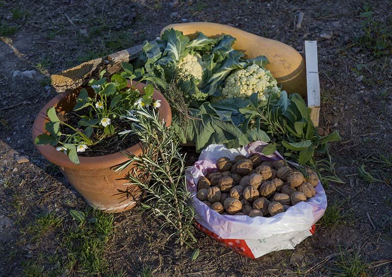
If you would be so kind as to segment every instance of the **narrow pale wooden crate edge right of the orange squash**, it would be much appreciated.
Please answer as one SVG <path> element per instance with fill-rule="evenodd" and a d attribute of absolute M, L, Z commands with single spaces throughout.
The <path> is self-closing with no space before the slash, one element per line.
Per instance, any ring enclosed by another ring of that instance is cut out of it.
<path fill-rule="evenodd" d="M 305 41 L 304 54 L 306 60 L 306 86 L 308 107 L 311 108 L 310 118 L 313 124 L 319 126 L 320 114 L 320 82 L 317 61 L 317 41 Z"/>

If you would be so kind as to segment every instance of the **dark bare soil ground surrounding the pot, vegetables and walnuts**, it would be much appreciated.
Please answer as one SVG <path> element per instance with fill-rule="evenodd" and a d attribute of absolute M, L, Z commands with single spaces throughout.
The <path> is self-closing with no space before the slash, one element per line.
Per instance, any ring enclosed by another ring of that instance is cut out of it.
<path fill-rule="evenodd" d="M 392 4 L 371 2 L 381 22 L 371 25 L 374 34 L 392 25 Z M 0 276 L 391 276 L 392 59 L 356 39 L 365 34 L 364 3 L 0 0 Z M 331 153 L 344 184 L 326 188 L 328 213 L 295 250 L 250 260 L 196 232 L 200 255 L 192 261 L 192 250 L 166 241 L 154 232 L 159 222 L 137 209 L 113 217 L 89 210 L 102 224 L 79 226 L 69 211 L 86 203 L 34 149 L 33 120 L 56 94 L 50 74 L 191 21 L 233 25 L 297 50 L 318 41 L 320 124 L 341 133 Z M 16 70 L 37 74 L 13 78 Z M 389 163 L 378 163 L 379 154 Z M 18 164 L 17 155 L 29 162 Z M 384 182 L 361 179 L 362 164 Z"/>

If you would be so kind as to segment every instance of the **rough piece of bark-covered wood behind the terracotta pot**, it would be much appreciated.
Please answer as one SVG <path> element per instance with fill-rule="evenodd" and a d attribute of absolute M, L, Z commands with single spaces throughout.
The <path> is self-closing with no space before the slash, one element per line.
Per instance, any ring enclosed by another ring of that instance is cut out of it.
<path fill-rule="evenodd" d="M 143 45 L 137 45 L 53 74 L 51 84 L 56 92 L 62 93 L 85 85 L 91 79 L 97 79 L 102 70 L 106 70 L 105 76 L 112 76 L 120 71 L 122 62 L 136 59 L 142 52 L 142 47 Z"/>

